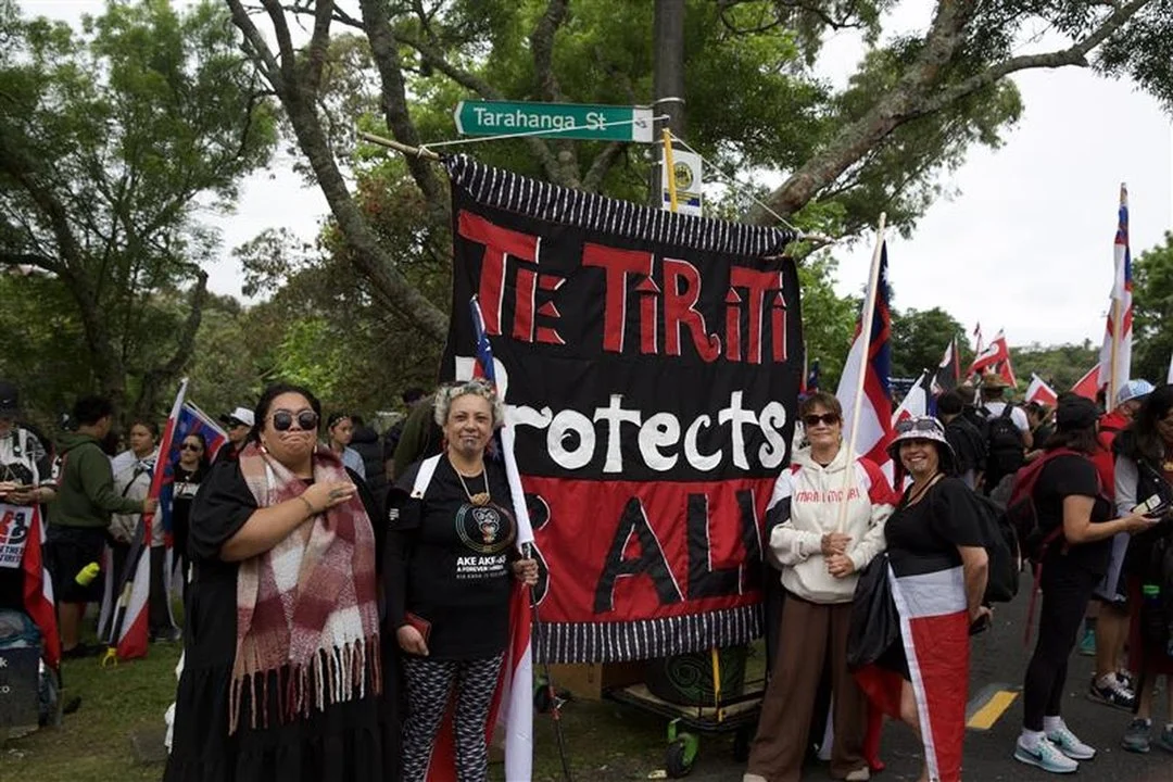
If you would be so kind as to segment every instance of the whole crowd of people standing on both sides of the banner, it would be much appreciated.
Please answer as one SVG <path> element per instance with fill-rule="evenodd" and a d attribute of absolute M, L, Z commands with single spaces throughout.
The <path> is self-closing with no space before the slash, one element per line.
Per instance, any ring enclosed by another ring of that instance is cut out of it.
<path fill-rule="evenodd" d="M 1019 407 L 1005 392 L 983 378 L 941 395 L 935 417 L 897 422 L 889 472 L 848 453 L 833 395 L 801 401 L 766 517 L 785 601 L 745 782 L 800 778 L 823 675 L 834 778 L 882 766 L 883 714 L 923 740 L 922 780 L 961 778 L 965 701 L 944 689 L 968 680 L 969 638 L 995 610 L 983 509 L 1023 485 L 1037 536 L 1019 538 L 1017 555 L 1042 604 L 1013 757 L 1053 773 L 1096 757 L 1062 715 L 1082 625 L 1096 655 L 1089 696 L 1133 712 L 1124 748 L 1173 752 L 1168 682 L 1168 721 L 1153 729 L 1157 679 L 1173 673 L 1173 386 L 1131 381 L 1107 410 L 1070 394 Z M 359 416 L 324 417 L 311 389 L 279 383 L 223 416 L 215 460 L 198 431 L 178 443 L 177 556 L 164 557 L 161 535 L 138 542 L 151 640 L 182 638 L 184 650 L 168 780 L 422 781 L 449 698 L 456 778 L 487 778 L 511 583 L 538 576 L 516 544 L 509 482 L 486 458 L 504 413 L 476 380 L 405 402 L 380 443 Z M 157 510 L 149 488 L 168 457 L 152 420 L 133 421 L 111 456 L 114 413 L 106 399 L 79 400 L 50 447 L 16 423 L 18 389 L 0 382 L 0 502 L 46 510 L 66 659 L 94 653 L 87 605 L 109 599 L 141 516 Z M 93 563 L 107 563 L 106 578 L 81 577 Z M 176 576 L 182 630 L 165 589 Z M 861 594 L 877 589 L 895 619 L 861 664 Z"/>

